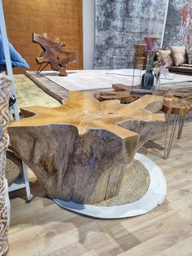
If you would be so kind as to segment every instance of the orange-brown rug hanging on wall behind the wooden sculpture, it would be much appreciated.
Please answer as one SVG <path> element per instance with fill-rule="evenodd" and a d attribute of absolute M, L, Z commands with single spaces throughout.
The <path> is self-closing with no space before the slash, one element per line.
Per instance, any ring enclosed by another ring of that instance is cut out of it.
<path fill-rule="evenodd" d="M 59 38 L 66 45 L 65 51 L 79 55 L 79 61 L 68 68 L 83 67 L 81 0 L 2 0 L 2 4 L 8 38 L 31 70 L 37 70 L 35 58 L 41 54 L 41 48 L 33 43 L 33 33 Z M 14 68 L 14 72 L 24 73 L 24 68 Z"/>

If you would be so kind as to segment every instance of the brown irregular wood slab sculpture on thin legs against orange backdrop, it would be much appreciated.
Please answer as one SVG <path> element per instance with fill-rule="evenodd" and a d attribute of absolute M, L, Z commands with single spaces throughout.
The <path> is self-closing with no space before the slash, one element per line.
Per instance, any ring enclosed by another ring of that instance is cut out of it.
<path fill-rule="evenodd" d="M 76 52 L 63 51 L 62 48 L 65 45 L 60 42 L 58 38 L 55 41 L 47 38 L 46 33 L 42 36 L 33 33 L 33 42 L 40 44 L 43 49 L 42 54 L 36 58 L 37 64 L 50 64 L 53 70 L 59 71 L 59 76 L 68 76 L 66 67 L 68 64 L 72 64 L 78 60 Z M 41 70 L 39 72 L 41 72 Z"/>

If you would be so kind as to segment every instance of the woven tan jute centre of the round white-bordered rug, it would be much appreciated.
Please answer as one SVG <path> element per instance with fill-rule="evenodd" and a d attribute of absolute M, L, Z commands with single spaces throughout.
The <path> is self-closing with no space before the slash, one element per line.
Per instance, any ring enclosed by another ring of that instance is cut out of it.
<path fill-rule="evenodd" d="M 132 166 L 125 167 L 124 177 L 118 195 L 94 205 L 113 206 L 138 201 L 146 194 L 149 186 L 150 174 L 148 170 L 146 170 L 146 167 L 140 161 L 134 160 Z"/>

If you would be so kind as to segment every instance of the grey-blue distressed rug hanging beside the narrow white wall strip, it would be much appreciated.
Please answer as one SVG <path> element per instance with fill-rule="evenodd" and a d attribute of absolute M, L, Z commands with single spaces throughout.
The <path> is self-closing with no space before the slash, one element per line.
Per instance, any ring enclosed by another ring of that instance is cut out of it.
<path fill-rule="evenodd" d="M 96 0 L 94 68 L 133 67 L 133 45 L 150 35 L 160 46 L 166 0 Z"/>

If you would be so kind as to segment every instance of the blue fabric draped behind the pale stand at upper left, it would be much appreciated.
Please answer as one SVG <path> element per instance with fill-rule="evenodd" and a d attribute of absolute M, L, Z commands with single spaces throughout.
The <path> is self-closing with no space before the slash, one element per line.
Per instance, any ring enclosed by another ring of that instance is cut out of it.
<path fill-rule="evenodd" d="M 15 50 L 15 48 L 11 45 L 9 42 L 9 51 L 11 55 L 11 65 L 13 68 L 15 67 L 20 67 L 20 68 L 26 68 L 28 69 L 28 63 L 26 60 L 24 60 L 19 52 Z M 3 46 L 2 46 L 2 38 L 0 38 L 0 71 L 5 71 L 7 69 L 6 67 L 6 60 L 5 60 L 5 55 L 3 51 Z"/>

